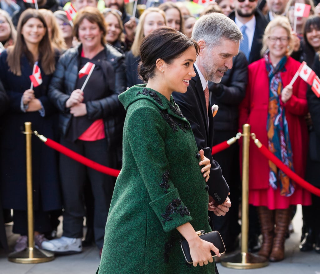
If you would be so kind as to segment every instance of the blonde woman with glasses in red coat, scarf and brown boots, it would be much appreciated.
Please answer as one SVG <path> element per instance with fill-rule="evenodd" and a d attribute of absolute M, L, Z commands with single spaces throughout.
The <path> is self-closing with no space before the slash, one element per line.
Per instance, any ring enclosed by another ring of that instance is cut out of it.
<path fill-rule="evenodd" d="M 298 77 L 300 62 L 292 59 L 289 20 L 278 16 L 265 29 L 263 58 L 248 66 L 248 85 L 239 108 L 239 125 L 251 131 L 271 153 L 304 177 L 308 130 L 307 84 Z M 255 144 L 250 144 L 255 146 Z M 311 204 L 311 195 L 292 181 L 257 148 L 250 148 L 249 204 L 257 206 L 263 242 L 259 255 L 271 262 L 284 259 L 284 241 L 291 220 L 290 205 Z M 276 226 L 275 226 L 276 225 Z"/>

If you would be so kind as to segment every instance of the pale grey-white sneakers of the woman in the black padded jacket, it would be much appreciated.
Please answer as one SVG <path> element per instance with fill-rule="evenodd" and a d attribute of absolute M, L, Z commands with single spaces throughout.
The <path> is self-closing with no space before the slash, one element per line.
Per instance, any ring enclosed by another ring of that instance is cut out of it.
<path fill-rule="evenodd" d="M 42 242 L 42 248 L 56 254 L 75 254 L 82 252 L 81 238 L 62 236 L 59 239 Z"/>

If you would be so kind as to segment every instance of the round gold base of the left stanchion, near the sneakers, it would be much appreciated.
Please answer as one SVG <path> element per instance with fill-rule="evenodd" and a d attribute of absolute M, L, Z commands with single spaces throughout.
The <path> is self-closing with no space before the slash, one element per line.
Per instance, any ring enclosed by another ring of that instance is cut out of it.
<path fill-rule="evenodd" d="M 36 247 L 27 247 L 23 251 L 10 253 L 8 260 L 19 263 L 49 262 L 54 260 L 54 254 Z"/>

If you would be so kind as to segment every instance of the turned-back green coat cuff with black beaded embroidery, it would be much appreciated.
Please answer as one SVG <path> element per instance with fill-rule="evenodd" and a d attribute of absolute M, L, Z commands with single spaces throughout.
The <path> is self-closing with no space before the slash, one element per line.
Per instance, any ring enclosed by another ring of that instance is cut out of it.
<path fill-rule="evenodd" d="M 181 201 L 177 189 L 150 202 L 150 206 L 158 216 L 165 232 L 192 221 L 190 212 Z"/>

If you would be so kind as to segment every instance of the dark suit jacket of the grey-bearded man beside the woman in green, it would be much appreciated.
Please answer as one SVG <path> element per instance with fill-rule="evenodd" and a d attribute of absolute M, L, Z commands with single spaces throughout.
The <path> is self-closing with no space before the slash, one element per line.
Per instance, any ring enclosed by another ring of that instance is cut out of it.
<path fill-rule="evenodd" d="M 209 109 L 208 126 L 208 109 L 206 109 L 204 91 L 199 75 L 192 77 L 189 84 L 186 93 L 173 92 L 172 96 L 191 125 L 198 149 L 203 149 L 204 156 L 211 160 L 210 178 L 207 182 L 210 187 L 209 195 L 213 197 L 217 204 L 222 204 L 228 196 L 229 186 L 222 176 L 220 165 L 213 160 L 211 154 L 213 145 L 212 111 Z"/>

